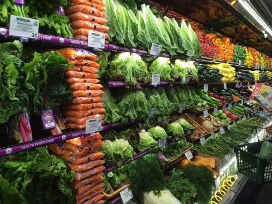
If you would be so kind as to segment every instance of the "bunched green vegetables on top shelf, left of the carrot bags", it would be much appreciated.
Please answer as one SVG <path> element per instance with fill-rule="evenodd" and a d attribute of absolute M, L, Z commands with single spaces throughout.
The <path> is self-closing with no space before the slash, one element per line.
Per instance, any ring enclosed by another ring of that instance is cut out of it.
<path fill-rule="evenodd" d="M 67 0 L 38 1 L 24 0 L 26 6 L 18 5 L 14 1 L 4 0 L 0 3 L 0 24 L 9 26 L 9 16 L 17 15 L 39 20 L 39 32 L 72 38 L 69 18 L 60 15 L 59 6 L 67 6 Z"/>

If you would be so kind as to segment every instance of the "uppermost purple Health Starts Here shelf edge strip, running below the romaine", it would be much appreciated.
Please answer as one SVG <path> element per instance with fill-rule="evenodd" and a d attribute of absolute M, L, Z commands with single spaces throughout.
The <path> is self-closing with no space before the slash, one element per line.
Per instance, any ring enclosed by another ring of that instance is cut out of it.
<path fill-rule="evenodd" d="M 88 41 L 85 40 L 78 40 L 78 39 L 72 39 L 72 38 L 63 38 L 59 36 L 53 36 L 53 35 L 46 35 L 46 34 L 38 34 L 38 38 L 20 38 L 16 36 L 11 36 L 9 35 L 9 29 L 0 27 L 0 36 L 6 37 L 6 38 L 13 38 L 13 39 L 18 39 L 22 42 L 28 42 L 28 41 L 34 41 L 34 42 L 44 42 L 44 43 L 54 43 L 55 45 L 59 46 L 74 46 L 74 47 L 82 47 L 82 48 L 90 48 L 94 50 L 105 50 L 105 51 L 113 51 L 113 52 L 130 52 L 130 53 L 136 53 L 139 55 L 145 55 L 145 56 L 152 56 L 155 57 L 154 55 L 150 55 L 147 50 L 144 49 L 137 49 L 137 48 L 127 48 L 127 47 L 122 47 L 119 45 L 114 45 L 114 44 L 105 44 L 104 49 L 97 49 L 93 47 L 88 47 Z M 201 57 L 199 59 L 191 59 L 191 58 L 182 58 L 180 56 L 171 56 L 166 53 L 160 54 L 160 57 L 167 57 L 171 59 L 182 59 L 182 60 L 192 60 L 196 61 L 199 63 L 224 63 L 225 61 L 222 60 L 216 60 L 213 61 L 212 58 L 207 58 L 207 57 Z M 235 65 L 241 68 L 248 68 L 248 69 L 255 69 L 255 70 L 269 70 L 269 69 L 260 69 L 256 67 L 249 67 L 246 65 L 238 65 L 238 63 L 235 62 L 230 62 L 231 65 Z"/>

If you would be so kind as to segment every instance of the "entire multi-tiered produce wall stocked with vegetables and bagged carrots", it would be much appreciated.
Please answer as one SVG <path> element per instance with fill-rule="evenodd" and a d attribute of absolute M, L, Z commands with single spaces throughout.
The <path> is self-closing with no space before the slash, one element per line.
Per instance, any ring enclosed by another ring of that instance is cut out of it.
<path fill-rule="evenodd" d="M 232 147 L 270 122 L 249 100 L 272 82 L 268 56 L 129 2 L 0 3 L 2 203 L 115 203 L 128 189 L 217 202 Z M 10 15 L 37 19 L 37 38 L 11 35 Z"/>

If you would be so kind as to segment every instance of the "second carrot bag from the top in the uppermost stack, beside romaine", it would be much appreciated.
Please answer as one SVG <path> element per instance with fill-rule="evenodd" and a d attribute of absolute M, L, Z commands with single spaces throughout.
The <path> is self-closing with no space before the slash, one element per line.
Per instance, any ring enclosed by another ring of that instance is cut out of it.
<path fill-rule="evenodd" d="M 94 16 L 102 17 L 102 18 L 106 17 L 106 14 L 104 12 L 101 12 L 93 7 L 86 6 L 86 5 L 75 5 L 75 6 L 67 7 L 65 9 L 65 14 L 68 16 L 77 12 L 82 12 L 88 15 L 94 15 Z"/>

